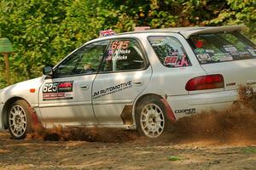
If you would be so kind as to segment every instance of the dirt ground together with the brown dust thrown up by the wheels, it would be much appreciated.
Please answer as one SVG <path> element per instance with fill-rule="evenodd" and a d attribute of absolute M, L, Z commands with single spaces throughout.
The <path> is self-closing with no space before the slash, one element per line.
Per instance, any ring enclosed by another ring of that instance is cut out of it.
<path fill-rule="evenodd" d="M 184 117 L 158 139 L 117 129 L 0 132 L 0 169 L 256 169 L 256 112 Z"/>

